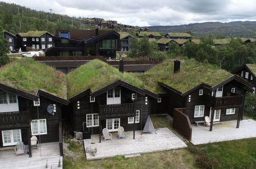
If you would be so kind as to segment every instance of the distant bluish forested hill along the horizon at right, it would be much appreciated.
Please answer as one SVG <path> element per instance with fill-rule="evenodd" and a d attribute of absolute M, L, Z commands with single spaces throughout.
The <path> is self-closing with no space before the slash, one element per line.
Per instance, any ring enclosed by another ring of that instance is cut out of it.
<path fill-rule="evenodd" d="M 185 32 L 191 30 L 194 36 L 222 34 L 226 37 L 256 37 L 256 21 L 235 21 L 230 23 L 206 22 L 180 26 L 150 26 L 150 31 L 161 33 Z"/>

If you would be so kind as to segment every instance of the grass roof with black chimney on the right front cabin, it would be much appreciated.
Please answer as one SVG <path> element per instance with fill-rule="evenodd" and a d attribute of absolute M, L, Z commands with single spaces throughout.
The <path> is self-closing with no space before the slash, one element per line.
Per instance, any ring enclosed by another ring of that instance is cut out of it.
<path fill-rule="evenodd" d="M 179 73 L 173 73 L 173 65 L 174 61 L 168 59 L 138 76 L 147 84 L 149 90 L 156 94 L 164 93 L 161 87 L 157 85 L 157 81 L 184 93 L 200 83 L 215 86 L 232 76 L 231 73 L 223 69 L 194 59 L 181 60 Z"/>

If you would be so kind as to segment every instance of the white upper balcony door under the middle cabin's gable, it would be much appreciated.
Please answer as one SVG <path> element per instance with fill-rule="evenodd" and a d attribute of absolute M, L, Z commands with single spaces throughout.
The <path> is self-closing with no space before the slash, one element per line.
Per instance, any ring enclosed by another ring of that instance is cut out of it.
<path fill-rule="evenodd" d="M 107 104 L 121 104 L 120 88 L 115 88 L 107 91 Z"/>

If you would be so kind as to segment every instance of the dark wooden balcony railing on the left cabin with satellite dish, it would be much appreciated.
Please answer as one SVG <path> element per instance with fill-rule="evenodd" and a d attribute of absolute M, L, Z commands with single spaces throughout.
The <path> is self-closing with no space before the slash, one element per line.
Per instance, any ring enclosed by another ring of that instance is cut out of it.
<path fill-rule="evenodd" d="M 0 113 L 0 129 L 29 126 L 29 112 Z"/>

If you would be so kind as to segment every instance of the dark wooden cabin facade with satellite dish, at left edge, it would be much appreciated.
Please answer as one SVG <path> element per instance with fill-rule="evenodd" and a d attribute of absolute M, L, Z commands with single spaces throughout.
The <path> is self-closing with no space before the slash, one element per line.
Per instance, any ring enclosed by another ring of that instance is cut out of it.
<path fill-rule="evenodd" d="M 0 147 L 23 141 L 32 157 L 30 138 L 35 135 L 41 143 L 59 142 L 63 156 L 61 107 L 68 105 L 68 100 L 42 90 L 32 95 L 2 83 L 0 95 Z M 47 112 L 49 104 L 53 104 L 54 114 Z"/>

